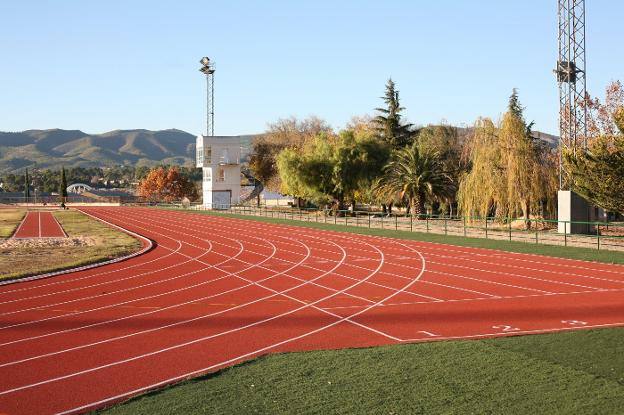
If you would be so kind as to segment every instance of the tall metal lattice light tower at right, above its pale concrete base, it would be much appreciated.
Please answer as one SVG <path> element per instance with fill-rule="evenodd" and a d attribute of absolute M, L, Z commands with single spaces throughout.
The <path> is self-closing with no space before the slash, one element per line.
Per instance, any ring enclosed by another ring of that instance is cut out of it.
<path fill-rule="evenodd" d="M 559 1 L 559 186 L 563 189 L 562 154 L 587 149 L 587 96 L 585 66 L 585 0 Z"/>

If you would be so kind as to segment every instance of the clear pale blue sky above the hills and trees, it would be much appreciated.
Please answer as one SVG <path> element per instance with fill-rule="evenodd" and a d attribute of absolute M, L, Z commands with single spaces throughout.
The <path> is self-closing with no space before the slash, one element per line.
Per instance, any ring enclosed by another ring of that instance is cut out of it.
<path fill-rule="evenodd" d="M 512 88 L 557 132 L 556 0 L 0 2 L 0 130 L 204 130 L 199 59 L 216 62 L 215 133 L 280 117 L 335 127 L 392 77 L 409 121 L 497 118 Z M 588 1 L 588 86 L 624 80 L 624 2 Z"/>

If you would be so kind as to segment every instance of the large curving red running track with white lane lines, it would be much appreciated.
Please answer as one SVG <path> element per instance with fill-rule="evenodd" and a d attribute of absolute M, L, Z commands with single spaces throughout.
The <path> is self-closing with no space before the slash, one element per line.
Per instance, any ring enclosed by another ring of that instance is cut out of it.
<path fill-rule="evenodd" d="M 624 324 L 624 267 L 149 208 L 144 255 L 0 287 L 0 413 L 84 412 L 264 353 Z"/>

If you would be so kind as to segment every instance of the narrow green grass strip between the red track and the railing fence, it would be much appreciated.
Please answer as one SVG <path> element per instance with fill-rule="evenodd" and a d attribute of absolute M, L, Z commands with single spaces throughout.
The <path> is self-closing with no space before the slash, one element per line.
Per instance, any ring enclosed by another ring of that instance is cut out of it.
<path fill-rule="evenodd" d="M 159 208 L 163 209 L 163 208 Z M 168 209 L 168 208 L 164 208 Z M 171 208 L 180 211 L 180 209 Z M 554 245 L 542 245 L 518 241 L 503 241 L 496 239 L 469 238 L 464 236 L 441 235 L 435 233 L 408 232 L 397 231 L 394 229 L 374 229 L 356 226 L 335 225 L 320 222 L 302 222 L 298 220 L 276 219 L 263 216 L 248 216 L 231 213 L 221 213 L 209 210 L 193 211 L 206 215 L 225 216 L 243 220 L 251 220 L 257 222 L 275 223 L 290 226 L 301 226 L 305 228 L 324 229 L 329 231 L 355 233 L 360 235 L 385 236 L 389 238 L 408 239 L 414 241 L 434 242 L 441 244 L 449 244 L 456 246 L 469 246 L 475 248 L 498 249 L 508 252 L 520 252 L 526 254 L 538 254 L 559 258 L 581 259 L 585 261 L 598 261 L 613 264 L 624 264 L 624 252 L 605 251 L 591 248 L 565 247 Z"/>

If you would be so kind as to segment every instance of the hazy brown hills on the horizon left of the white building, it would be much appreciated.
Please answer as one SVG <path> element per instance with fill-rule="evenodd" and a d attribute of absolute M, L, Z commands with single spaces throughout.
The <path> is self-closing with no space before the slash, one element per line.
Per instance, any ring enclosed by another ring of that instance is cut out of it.
<path fill-rule="evenodd" d="M 60 129 L 0 132 L 0 173 L 61 165 L 191 165 L 194 159 L 195 135 L 176 129 L 103 134 Z"/>

